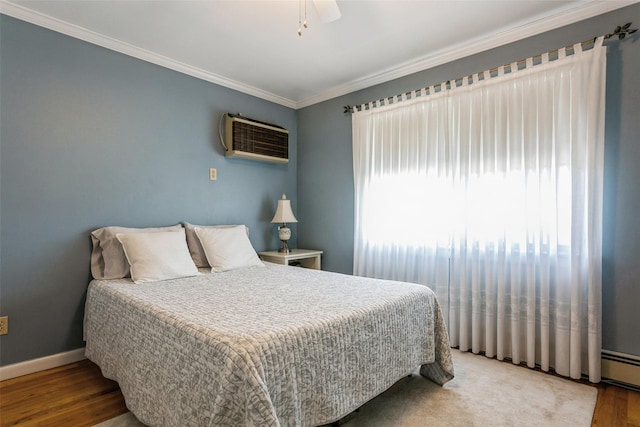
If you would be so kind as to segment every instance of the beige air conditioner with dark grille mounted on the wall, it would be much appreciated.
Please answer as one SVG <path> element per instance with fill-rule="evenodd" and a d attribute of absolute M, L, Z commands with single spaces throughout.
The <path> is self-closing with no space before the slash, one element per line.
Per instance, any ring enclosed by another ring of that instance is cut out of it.
<path fill-rule="evenodd" d="M 225 156 L 271 163 L 289 162 L 289 131 L 240 114 L 224 114 Z"/>

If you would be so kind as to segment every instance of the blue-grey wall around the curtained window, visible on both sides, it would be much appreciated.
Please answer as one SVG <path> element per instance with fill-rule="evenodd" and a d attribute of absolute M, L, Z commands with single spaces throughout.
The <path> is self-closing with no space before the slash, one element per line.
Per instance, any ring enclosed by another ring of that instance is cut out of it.
<path fill-rule="evenodd" d="M 430 70 L 350 93 L 298 111 L 298 217 L 301 247 L 324 249 L 323 268 L 353 267 L 351 118 L 359 105 L 491 69 L 612 32 L 630 20 L 632 5 Z M 605 150 L 603 348 L 640 355 L 640 35 L 608 42 Z"/>

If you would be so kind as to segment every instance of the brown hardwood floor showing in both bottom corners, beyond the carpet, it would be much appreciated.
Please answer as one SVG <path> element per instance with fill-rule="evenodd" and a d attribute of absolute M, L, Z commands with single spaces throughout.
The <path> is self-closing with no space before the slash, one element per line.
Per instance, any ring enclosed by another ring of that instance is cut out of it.
<path fill-rule="evenodd" d="M 597 388 L 592 426 L 640 427 L 640 392 Z M 92 426 L 126 411 L 118 384 L 88 360 L 0 382 L 0 426 Z"/>

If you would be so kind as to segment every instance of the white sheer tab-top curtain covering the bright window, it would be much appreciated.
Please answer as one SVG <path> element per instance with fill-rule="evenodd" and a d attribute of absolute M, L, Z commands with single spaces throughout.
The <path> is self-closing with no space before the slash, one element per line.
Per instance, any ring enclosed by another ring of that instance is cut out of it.
<path fill-rule="evenodd" d="M 600 380 L 606 50 L 353 114 L 354 274 L 432 287 L 452 346 Z"/>

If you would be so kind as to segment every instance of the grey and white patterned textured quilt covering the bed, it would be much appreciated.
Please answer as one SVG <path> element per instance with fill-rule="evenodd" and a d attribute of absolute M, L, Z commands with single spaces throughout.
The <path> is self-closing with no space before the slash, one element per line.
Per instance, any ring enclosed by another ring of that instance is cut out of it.
<path fill-rule="evenodd" d="M 280 266 L 134 284 L 94 280 L 87 357 L 151 426 L 314 426 L 421 366 L 453 378 L 435 294 Z"/>

